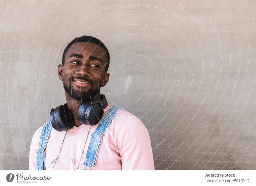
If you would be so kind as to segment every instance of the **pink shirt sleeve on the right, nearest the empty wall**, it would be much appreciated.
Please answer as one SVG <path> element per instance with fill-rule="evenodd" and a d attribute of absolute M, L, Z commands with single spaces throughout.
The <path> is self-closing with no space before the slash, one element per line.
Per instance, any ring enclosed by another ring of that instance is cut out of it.
<path fill-rule="evenodd" d="M 148 130 L 135 115 L 124 119 L 117 135 L 117 146 L 122 170 L 154 170 Z"/>

